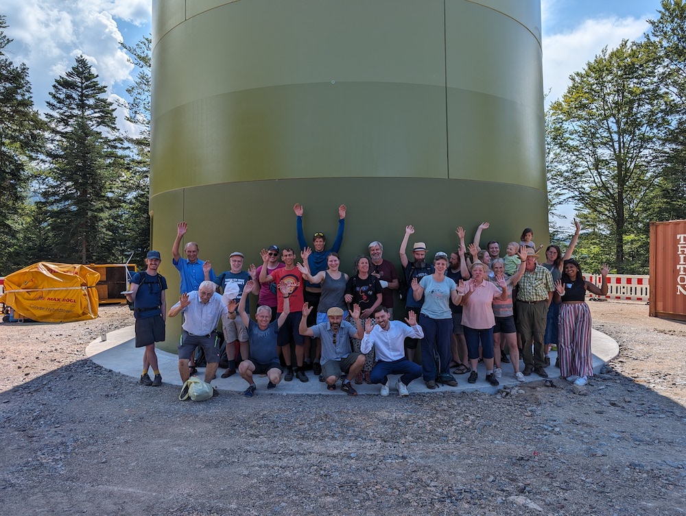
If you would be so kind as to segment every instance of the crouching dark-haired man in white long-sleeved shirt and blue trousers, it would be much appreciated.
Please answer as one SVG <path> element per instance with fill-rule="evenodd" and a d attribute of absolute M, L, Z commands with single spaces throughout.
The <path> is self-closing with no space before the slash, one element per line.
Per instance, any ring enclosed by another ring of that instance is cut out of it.
<path fill-rule="evenodd" d="M 405 339 L 423 339 L 424 330 L 417 324 L 417 316 L 412 310 L 407 314 L 405 325 L 400 321 L 391 321 L 388 308 L 379 306 L 374 312 L 376 325 L 367 319 L 364 327 L 361 351 L 368 353 L 372 346 L 377 352 L 377 363 L 372 369 L 372 384 L 381 384 L 381 395 L 390 393 L 389 374 L 401 374 L 396 383 L 398 394 L 409 396 L 407 385 L 422 376 L 422 367 L 405 357 Z"/>

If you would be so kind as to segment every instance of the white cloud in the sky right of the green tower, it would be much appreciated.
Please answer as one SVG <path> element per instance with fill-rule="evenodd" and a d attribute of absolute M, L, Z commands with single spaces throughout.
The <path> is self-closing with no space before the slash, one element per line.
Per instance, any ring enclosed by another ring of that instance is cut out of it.
<path fill-rule="evenodd" d="M 548 2 L 549 3 L 549 2 Z M 615 48 L 622 40 L 638 40 L 648 29 L 645 17 L 586 20 L 569 32 L 543 34 L 543 87 L 558 99 L 569 85 L 569 75 L 582 71 L 603 47 Z"/>

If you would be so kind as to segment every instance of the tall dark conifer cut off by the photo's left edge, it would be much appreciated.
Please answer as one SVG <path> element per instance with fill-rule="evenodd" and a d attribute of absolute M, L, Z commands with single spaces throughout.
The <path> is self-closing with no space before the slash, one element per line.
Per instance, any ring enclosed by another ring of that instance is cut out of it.
<path fill-rule="evenodd" d="M 29 180 L 30 160 L 40 151 L 43 121 L 34 110 L 25 64 L 5 54 L 12 40 L 0 15 L 0 275 L 26 265 L 21 257 L 19 226 Z"/>

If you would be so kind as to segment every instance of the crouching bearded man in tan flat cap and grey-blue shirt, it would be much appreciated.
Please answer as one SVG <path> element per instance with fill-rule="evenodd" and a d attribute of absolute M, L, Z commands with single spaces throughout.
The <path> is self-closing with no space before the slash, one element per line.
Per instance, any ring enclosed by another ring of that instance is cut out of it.
<path fill-rule="evenodd" d="M 351 380 L 364 367 L 364 354 L 353 353 L 350 339 L 362 339 L 364 330 L 359 320 L 359 305 L 353 307 L 351 315 L 355 326 L 343 320 L 343 310 L 334 306 L 327 310 L 329 321 L 307 328 L 307 316 L 313 310 L 307 303 L 303 305 L 303 318 L 300 319 L 300 334 L 318 337 L 322 342 L 322 377 L 327 382 L 329 391 L 336 390 L 336 382 L 342 373 L 346 373 L 341 390 L 348 396 L 356 396 L 357 391 Z"/>

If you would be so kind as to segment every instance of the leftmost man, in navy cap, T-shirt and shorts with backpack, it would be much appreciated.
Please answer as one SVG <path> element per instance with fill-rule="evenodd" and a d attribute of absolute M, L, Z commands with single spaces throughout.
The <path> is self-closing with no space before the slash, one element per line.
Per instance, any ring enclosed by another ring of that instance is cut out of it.
<path fill-rule="evenodd" d="M 161 386 L 162 375 L 157 364 L 155 343 L 165 340 L 165 321 L 167 316 L 167 280 L 157 272 L 161 263 L 159 251 L 149 251 L 145 256 L 147 268 L 137 272 L 131 278 L 130 293 L 126 294 L 128 302 L 133 303 L 136 318 L 136 347 L 145 347 L 143 352 L 143 374 L 141 384 Z M 152 367 L 155 375 L 150 380 L 147 370 Z"/>

